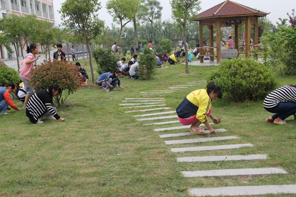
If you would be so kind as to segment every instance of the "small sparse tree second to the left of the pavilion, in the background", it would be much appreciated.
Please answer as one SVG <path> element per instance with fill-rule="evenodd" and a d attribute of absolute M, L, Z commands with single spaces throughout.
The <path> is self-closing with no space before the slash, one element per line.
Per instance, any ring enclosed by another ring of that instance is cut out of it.
<path fill-rule="evenodd" d="M 161 19 L 161 10 L 162 6 L 160 6 L 158 0 L 146 0 L 141 7 L 142 20 L 148 21 L 151 24 L 151 38 L 154 43 L 153 22 L 157 19 Z"/>

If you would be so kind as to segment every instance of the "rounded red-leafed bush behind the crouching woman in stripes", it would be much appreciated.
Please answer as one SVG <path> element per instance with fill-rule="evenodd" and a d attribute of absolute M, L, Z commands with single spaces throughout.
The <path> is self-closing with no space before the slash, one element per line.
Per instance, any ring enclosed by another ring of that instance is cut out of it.
<path fill-rule="evenodd" d="M 62 94 L 54 97 L 58 106 L 79 88 L 76 66 L 64 61 L 44 61 L 32 70 L 29 80 L 35 91 L 47 89 L 50 84 L 58 84 L 62 88 Z"/>

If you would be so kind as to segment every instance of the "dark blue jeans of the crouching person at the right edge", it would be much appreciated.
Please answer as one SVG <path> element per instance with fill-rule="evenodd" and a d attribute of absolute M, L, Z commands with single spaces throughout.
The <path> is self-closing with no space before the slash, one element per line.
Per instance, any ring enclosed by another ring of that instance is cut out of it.
<path fill-rule="evenodd" d="M 296 102 L 280 102 L 275 108 L 265 108 L 270 113 L 276 113 L 272 115 L 272 119 L 280 118 L 285 120 L 289 116 L 296 113 Z"/>

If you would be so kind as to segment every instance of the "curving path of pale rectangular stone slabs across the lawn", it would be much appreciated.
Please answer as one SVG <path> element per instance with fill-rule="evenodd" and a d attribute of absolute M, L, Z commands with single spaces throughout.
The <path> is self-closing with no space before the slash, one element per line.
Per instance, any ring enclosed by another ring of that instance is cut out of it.
<path fill-rule="evenodd" d="M 194 85 L 176 85 L 165 88 L 164 90 L 152 90 L 151 92 L 140 92 L 142 95 L 159 95 L 162 93 L 170 94 L 175 92 L 176 90 L 180 90 L 182 88 L 190 87 L 192 89 L 195 85 L 200 85 L 206 83 L 205 80 L 198 80 L 193 82 L 188 82 L 186 84 L 194 84 Z M 161 120 L 161 119 L 174 119 L 166 122 L 152 122 L 146 123 L 144 125 L 167 125 L 167 124 L 175 124 L 179 123 L 178 116 L 158 116 L 163 114 L 176 113 L 176 111 L 163 111 L 169 110 L 171 107 L 165 106 L 166 104 L 159 104 L 162 102 L 153 102 L 153 101 L 165 101 L 164 98 L 126 98 L 123 102 L 136 102 L 136 103 L 124 103 L 120 104 L 121 106 L 125 105 L 133 105 L 133 106 L 125 106 L 122 108 L 146 108 L 146 109 L 138 109 L 125 111 L 125 113 L 138 113 L 145 111 L 156 111 L 162 110 L 160 112 L 148 113 L 148 114 L 136 114 L 134 117 L 146 117 L 152 116 L 149 118 L 141 118 L 137 119 L 137 121 L 153 121 L 153 120 Z M 146 104 L 146 105 L 143 105 Z M 149 105 L 147 105 L 149 104 Z M 157 108 L 149 108 L 154 106 L 163 106 Z M 212 124 L 212 123 L 211 123 Z M 203 124 L 201 126 L 204 126 Z M 189 129 L 190 126 L 174 126 L 167 128 L 157 128 L 154 131 L 171 131 L 171 130 L 182 130 Z M 215 129 L 218 132 L 226 132 L 225 129 Z M 209 130 L 206 130 L 207 133 L 210 133 Z M 166 133 L 160 134 L 160 138 L 168 138 L 168 137 L 182 137 L 182 136 L 192 136 L 189 139 L 178 139 L 178 140 L 167 140 L 164 141 L 166 145 L 184 145 L 188 143 L 202 143 L 202 142 L 215 142 L 222 140 L 235 140 L 238 139 L 239 136 L 199 136 L 199 135 L 191 135 L 190 132 L 178 132 L 178 133 Z M 193 147 L 179 147 L 179 148 L 171 148 L 171 151 L 174 153 L 183 153 L 183 152 L 194 152 L 194 151 L 210 151 L 210 150 L 228 150 L 228 149 L 239 149 L 244 147 L 253 147 L 250 143 L 244 144 L 225 144 L 225 145 L 213 145 L 213 146 L 193 146 Z M 242 160 L 264 160 L 268 159 L 265 154 L 253 154 L 253 155 L 220 155 L 220 156 L 202 156 L 202 157 L 179 157 L 177 158 L 177 162 L 219 162 L 219 161 L 242 161 Z M 241 175 L 266 175 L 266 174 L 287 174 L 284 169 L 276 168 L 276 167 L 267 167 L 267 168 L 237 168 L 237 169 L 212 169 L 212 170 L 196 170 L 196 171 L 182 171 L 182 174 L 185 177 L 209 177 L 209 176 L 241 176 Z M 239 186 L 239 187 L 220 187 L 220 188 L 193 188 L 188 190 L 188 194 L 190 196 L 204 197 L 204 196 L 244 196 L 244 195 L 264 195 L 264 194 L 296 194 L 296 185 L 263 185 L 263 186 Z"/>

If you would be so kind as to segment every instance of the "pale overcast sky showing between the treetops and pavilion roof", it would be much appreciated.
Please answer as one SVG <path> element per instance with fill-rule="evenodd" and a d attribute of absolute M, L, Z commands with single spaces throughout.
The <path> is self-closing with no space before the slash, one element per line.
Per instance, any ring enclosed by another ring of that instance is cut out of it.
<path fill-rule="evenodd" d="M 54 15 L 55 15 L 55 23 L 56 26 L 62 23 L 62 19 L 60 18 L 60 14 L 58 10 L 61 9 L 61 4 L 65 0 L 53 0 L 54 6 Z M 162 20 L 171 18 L 171 6 L 169 0 L 159 0 L 161 3 L 162 9 Z M 273 24 L 279 22 L 278 18 L 288 18 L 287 12 L 289 14 L 292 13 L 292 9 L 296 8 L 296 0 L 234 0 L 237 3 L 252 7 L 254 9 L 258 9 L 263 12 L 267 12 L 270 14 L 267 15 L 267 18 L 271 20 Z M 106 9 L 107 0 L 101 0 L 102 9 L 99 11 L 99 17 L 101 20 L 105 21 L 105 24 L 111 27 L 112 18 L 108 14 Z M 223 0 L 201 0 L 201 11 L 205 11 L 219 3 L 223 2 Z M 199 12 L 199 13 L 200 13 Z M 132 23 L 130 23 L 130 26 Z"/>

